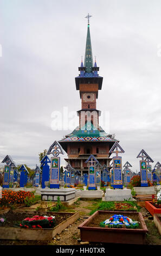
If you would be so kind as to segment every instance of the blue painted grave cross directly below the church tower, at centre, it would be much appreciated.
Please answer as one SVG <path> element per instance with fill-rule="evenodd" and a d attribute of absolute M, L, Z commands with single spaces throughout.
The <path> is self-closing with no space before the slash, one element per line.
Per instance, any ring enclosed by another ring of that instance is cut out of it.
<path fill-rule="evenodd" d="M 96 158 L 91 155 L 88 157 L 85 163 L 88 163 L 88 190 L 96 190 L 96 175 L 95 175 L 95 163 L 99 163 Z"/>

